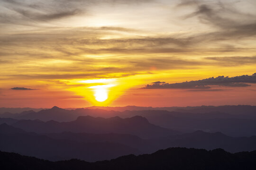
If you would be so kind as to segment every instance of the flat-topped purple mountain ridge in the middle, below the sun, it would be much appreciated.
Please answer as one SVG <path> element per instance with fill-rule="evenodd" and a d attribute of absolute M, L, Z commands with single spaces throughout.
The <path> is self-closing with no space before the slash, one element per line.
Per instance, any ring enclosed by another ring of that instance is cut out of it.
<path fill-rule="evenodd" d="M 57 122 L 54 120 L 43 122 L 38 120 L 19 120 L 12 124 L 28 132 L 59 133 L 64 131 L 85 133 L 121 133 L 131 134 L 142 138 L 175 135 L 179 132 L 155 126 L 146 118 L 135 116 L 132 118 L 94 118 L 80 116 L 74 121 Z"/>

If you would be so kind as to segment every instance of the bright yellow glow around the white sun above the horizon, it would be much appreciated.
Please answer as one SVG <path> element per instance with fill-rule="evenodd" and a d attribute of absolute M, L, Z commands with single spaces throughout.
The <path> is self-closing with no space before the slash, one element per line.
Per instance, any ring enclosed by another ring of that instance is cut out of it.
<path fill-rule="evenodd" d="M 109 106 L 114 100 L 123 95 L 131 86 L 143 84 L 144 82 L 142 81 L 141 76 L 142 75 L 137 75 L 136 78 L 127 76 L 122 78 L 87 80 L 73 79 L 68 80 L 69 85 L 73 85 L 68 90 L 82 96 L 83 100 L 90 102 L 91 105 Z M 145 77 L 146 75 L 143 76 Z M 151 74 L 148 76 L 152 77 Z"/>

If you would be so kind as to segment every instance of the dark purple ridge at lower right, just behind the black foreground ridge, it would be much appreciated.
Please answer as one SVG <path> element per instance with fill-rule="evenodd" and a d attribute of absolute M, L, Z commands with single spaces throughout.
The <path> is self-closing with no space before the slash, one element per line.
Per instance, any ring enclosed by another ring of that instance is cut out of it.
<path fill-rule="evenodd" d="M 203 148 L 207 150 L 222 148 L 231 153 L 256 150 L 256 136 L 230 137 L 220 132 L 207 133 L 196 131 L 193 133 L 149 139 L 155 150 L 168 147 Z"/>

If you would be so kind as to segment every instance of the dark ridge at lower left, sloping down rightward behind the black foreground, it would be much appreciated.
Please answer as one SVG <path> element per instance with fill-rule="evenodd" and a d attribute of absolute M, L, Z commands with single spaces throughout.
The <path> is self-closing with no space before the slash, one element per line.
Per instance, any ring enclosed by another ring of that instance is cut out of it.
<path fill-rule="evenodd" d="M 57 161 L 82 159 L 99 161 L 117 158 L 125 154 L 141 153 L 124 144 L 105 142 L 78 142 L 53 139 L 45 135 L 26 133 L 21 129 L 0 125 L 0 150 Z"/>

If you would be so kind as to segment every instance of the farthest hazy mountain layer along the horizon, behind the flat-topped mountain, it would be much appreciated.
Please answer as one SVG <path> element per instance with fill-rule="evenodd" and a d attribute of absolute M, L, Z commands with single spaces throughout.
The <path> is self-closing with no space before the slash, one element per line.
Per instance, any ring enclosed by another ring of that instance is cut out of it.
<path fill-rule="evenodd" d="M 202 107 L 208 108 L 207 107 Z M 213 108 L 221 108 L 213 107 Z M 40 110 L 35 112 L 33 110 L 24 111 L 18 114 L 0 114 L 0 123 L 13 124 L 13 119 L 30 119 L 50 121 L 55 120 L 58 122 L 71 122 L 76 121 L 80 116 L 92 116 L 102 118 L 130 118 L 134 116 L 145 117 L 150 123 L 181 131 L 184 133 L 202 130 L 206 132 L 222 132 L 229 136 L 253 136 L 256 135 L 256 110 L 253 113 L 255 106 L 223 106 L 223 108 L 233 108 L 231 110 L 239 110 L 239 108 L 247 108 L 241 111 L 240 114 L 230 114 L 223 112 L 208 112 L 208 113 L 190 113 L 190 112 L 177 112 L 167 110 L 126 110 L 126 111 L 109 111 L 101 109 L 76 109 L 65 110 L 58 107 L 52 109 Z M 247 110 L 250 110 L 248 111 Z M 12 118 L 5 119 L 4 118 Z M 52 122 L 52 121 L 51 121 Z M 31 122 L 30 122 L 31 123 Z M 53 123 L 53 122 L 52 122 Z M 37 123 L 38 124 L 38 123 Z M 42 123 L 43 124 L 43 123 Z M 47 122 L 47 124 L 50 124 Z M 100 123 L 101 124 L 101 123 Z M 29 130 L 29 129 L 28 129 Z M 39 131 L 37 131 L 39 132 Z M 43 131 L 40 131 L 40 133 Z M 44 131 L 47 133 L 47 131 Z M 53 131 L 55 132 L 55 131 Z M 78 131 L 75 131 L 78 132 Z M 87 131 L 94 133 L 93 131 Z M 101 133 L 101 132 L 100 132 Z M 125 132 L 122 132 L 125 133 Z M 134 134 L 134 133 L 132 133 Z M 138 135 L 138 134 L 134 134 Z"/>

